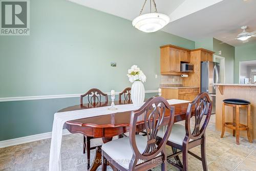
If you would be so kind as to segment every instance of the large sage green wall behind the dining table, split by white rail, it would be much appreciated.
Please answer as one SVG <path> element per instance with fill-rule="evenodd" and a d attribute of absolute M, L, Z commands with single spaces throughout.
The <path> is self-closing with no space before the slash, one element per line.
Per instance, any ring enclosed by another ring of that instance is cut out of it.
<path fill-rule="evenodd" d="M 0 37 L 0 98 L 121 91 L 131 87 L 126 74 L 134 64 L 147 76 L 145 90 L 157 90 L 159 47 L 166 44 L 195 48 L 194 41 L 143 33 L 129 20 L 66 0 L 33 0 L 30 36 Z M 78 98 L 0 102 L 0 141 L 50 132 L 53 114 L 78 103 Z"/>

